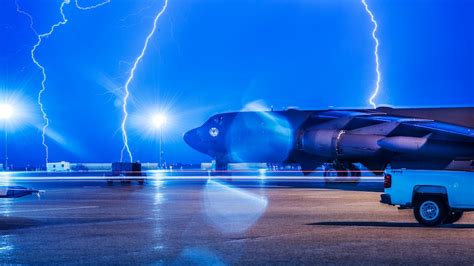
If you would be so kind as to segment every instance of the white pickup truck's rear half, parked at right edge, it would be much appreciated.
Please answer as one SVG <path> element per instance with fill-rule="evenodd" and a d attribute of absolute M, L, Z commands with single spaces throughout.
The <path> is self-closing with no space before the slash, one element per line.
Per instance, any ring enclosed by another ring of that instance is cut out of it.
<path fill-rule="evenodd" d="M 451 170 L 387 170 L 381 203 L 413 208 L 427 226 L 450 224 L 474 211 L 474 172 Z"/>

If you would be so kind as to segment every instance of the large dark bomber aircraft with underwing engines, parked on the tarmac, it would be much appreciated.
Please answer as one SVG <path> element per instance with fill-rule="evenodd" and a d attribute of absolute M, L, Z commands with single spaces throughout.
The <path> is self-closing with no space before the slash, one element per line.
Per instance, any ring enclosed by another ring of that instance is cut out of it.
<path fill-rule="evenodd" d="M 300 164 L 305 175 L 360 176 L 392 168 L 472 166 L 474 108 L 296 110 L 217 114 L 184 134 L 192 148 L 229 163 Z"/>

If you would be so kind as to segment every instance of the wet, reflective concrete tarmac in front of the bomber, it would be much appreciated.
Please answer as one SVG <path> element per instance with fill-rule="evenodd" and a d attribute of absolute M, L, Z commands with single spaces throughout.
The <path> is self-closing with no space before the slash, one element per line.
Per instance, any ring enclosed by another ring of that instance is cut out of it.
<path fill-rule="evenodd" d="M 474 264 L 474 213 L 421 227 L 379 181 L 19 185 L 46 193 L 0 200 L 0 264 Z"/>

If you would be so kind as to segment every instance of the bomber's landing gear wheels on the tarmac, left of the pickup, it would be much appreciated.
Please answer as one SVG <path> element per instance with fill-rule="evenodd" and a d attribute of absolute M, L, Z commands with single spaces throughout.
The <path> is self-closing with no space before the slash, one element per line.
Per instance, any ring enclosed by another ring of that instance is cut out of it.
<path fill-rule="evenodd" d="M 349 182 L 357 184 L 360 181 L 360 169 L 352 163 L 329 163 L 324 165 L 324 181 L 326 184 Z"/>

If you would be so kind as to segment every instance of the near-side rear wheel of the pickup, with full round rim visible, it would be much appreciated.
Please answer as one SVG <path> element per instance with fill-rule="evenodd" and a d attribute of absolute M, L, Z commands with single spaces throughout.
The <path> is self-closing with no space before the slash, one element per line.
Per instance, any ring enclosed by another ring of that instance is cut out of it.
<path fill-rule="evenodd" d="M 446 219 L 448 207 L 446 203 L 439 198 L 422 198 L 416 203 L 414 214 L 420 224 L 436 226 L 443 223 Z"/>

